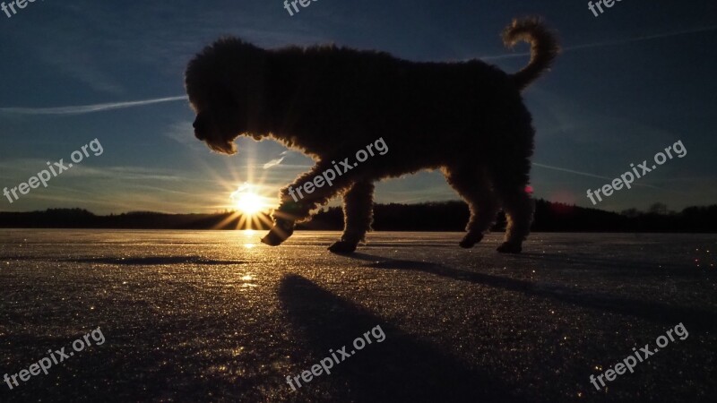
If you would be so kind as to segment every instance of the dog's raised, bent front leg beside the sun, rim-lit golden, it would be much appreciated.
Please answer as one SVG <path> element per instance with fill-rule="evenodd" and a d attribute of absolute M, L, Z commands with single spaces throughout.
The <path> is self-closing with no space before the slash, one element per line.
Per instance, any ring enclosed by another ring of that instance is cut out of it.
<path fill-rule="evenodd" d="M 326 159 L 330 161 L 332 159 Z M 294 233 L 294 223 L 307 220 L 311 211 L 325 204 L 351 184 L 350 166 L 319 162 L 281 189 L 281 204 L 273 211 L 274 226 L 262 238 L 264 244 L 280 245 Z"/>

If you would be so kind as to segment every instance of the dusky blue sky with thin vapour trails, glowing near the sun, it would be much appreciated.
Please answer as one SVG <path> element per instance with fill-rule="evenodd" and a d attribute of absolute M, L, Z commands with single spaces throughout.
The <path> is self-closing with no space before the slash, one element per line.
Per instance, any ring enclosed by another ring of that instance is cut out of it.
<path fill-rule="evenodd" d="M 244 182 L 274 197 L 312 161 L 282 155 L 272 141 L 240 139 L 238 156 L 226 157 L 194 139 L 183 73 L 220 35 L 262 47 L 333 42 L 416 61 L 481 57 L 514 72 L 527 63 L 527 48 L 506 50 L 499 33 L 529 14 L 543 16 L 566 48 L 524 93 L 537 129 L 535 196 L 592 206 L 588 188 L 681 140 L 685 158 L 597 207 L 717 202 L 713 1 L 623 0 L 596 18 L 575 0 L 318 0 L 294 16 L 280 0 L 47 0 L 10 18 L 0 13 L 0 187 L 27 181 L 46 161 L 68 161 L 95 138 L 104 152 L 12 204 L 0 199 L 0 210 L 212 212 L 230 207 L 229 194 Z M 134 101 L 146 102 L 125 105 Z M 456 198 L 436 172 L 376 190 L 379 202 Z"/>

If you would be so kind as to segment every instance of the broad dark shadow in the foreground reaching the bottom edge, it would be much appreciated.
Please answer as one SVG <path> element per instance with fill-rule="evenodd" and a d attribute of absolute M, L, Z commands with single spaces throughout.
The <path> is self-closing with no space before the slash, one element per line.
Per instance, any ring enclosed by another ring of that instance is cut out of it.
<path fill-rule="evenodd" d="M 369 335 L 355 355 L 335 364 L 329 375 L 321 374 L 298 393 L 330 388 L 333 401 L 514 401 L 511 391 L 497 378 L 467 367 L 444 349 L 416 339 L 365 308 L 353 304 L 298 275 L 281 280 L 281 304 L 292 333 L 306 347 L 298 362 L 309 369 L 331 356 L 329 349 L 346 346 L 376 326 L 385 339 Z M 338 355 L 341 360 L 341 355 Z M 303 382 L 303 381 L 301 381 Z M 333 387 L 332 387 L 333 386 Z"/>

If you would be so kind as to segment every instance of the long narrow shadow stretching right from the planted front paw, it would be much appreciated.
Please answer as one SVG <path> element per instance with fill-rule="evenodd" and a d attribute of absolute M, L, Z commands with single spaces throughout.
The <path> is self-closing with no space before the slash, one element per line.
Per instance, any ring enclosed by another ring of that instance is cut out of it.
<path fill-rule="evenodd" d="M 511 279 L 477 271 L 454 269 L 439 263 L 393 260 L 366 253 L 353 253 L 345 256 L 370 262 L 365 264 L 364 267 L 372 269 L 418 270 L 449 279 L 469 281 L 474 284 L 519 292 L 528 296 L 546 297 L 563 304 L 573 304 L 602 312 L 626 314 L 667 326 L 674 326 L 675 323 L 679 322 L 689 322 L 690 326 L 694 327 L 695 330 L 717 330 L 717 314 L 700 308 L 647 302 L 605 293 L 584 292 L 559 285 L 537 284 L 523 279 Z"/>

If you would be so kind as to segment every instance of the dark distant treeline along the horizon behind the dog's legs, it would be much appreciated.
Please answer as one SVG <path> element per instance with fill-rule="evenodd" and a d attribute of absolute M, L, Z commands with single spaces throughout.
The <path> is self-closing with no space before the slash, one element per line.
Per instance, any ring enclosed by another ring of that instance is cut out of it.
<path fill-rule="evenodd" d="M 462 231 L 467 220 L 468 206 L 462 201 L 376 204 L 373 227 L 377 231 Z M 5 228 L 235 229 L 244 221 L 238 213 L 231 211 L 214 214 L 134 211 L 108 216 L 82 209 L 0 212 L 0 227 Z M 341 208 L 331 207 L 319 211 L 314 219 L 299 225 L 299 229 L 339 230 L 342 226 Z M 268 229 L 268 225 L 255 225 L 254 228 Z M 493 229 L 504 228 L 505 216 L 501 213 Z M 717 205 L 688 207 L 674 212 L 658 203 L 647 212 L 631 209 L 616 213 L 539 200 L 536 201 L 532 230 L 714 233 L 717 232 Z"/>

